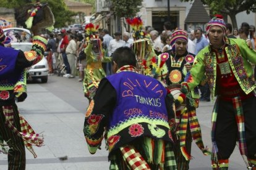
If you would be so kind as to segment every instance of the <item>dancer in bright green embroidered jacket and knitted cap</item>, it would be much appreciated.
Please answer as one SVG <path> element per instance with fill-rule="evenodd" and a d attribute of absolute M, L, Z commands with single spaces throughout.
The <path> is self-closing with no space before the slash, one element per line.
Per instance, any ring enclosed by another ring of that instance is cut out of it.
<path fill-rule="evenodd" d="M 256 52 L 242 39 L 225 36 L 226 24 L 216 15 L 207 24 L 210 45 L 202 49 L 184 86 L 194 89 L 207 76 L 211 97 L 217 97 L 212 115 L 213 169 L 228 169 L 236 147 L 248 169 L 256 165 L 256 97 L 254 73 Z"/>

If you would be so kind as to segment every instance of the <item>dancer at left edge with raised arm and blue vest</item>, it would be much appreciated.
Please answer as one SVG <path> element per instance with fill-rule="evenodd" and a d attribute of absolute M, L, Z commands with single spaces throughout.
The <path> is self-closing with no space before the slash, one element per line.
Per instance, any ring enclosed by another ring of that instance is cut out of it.
<path fill-rule="evenodd" d="M 33 131 L 15 103 L 27 97 L 25 68 L 39 62 L 46 49 L 46 39 L 38 36 L 38 30 L 33 30 L 33 34 L 31 51 L 7 48 L 0 43 L 0 152 L 8 154 L 8 169 L 25 169 L 25 147 L 36 158 L 32 146 L 43 145 L 43 137 Z M 4 39 L 0 28 L 0 42 Z"/>

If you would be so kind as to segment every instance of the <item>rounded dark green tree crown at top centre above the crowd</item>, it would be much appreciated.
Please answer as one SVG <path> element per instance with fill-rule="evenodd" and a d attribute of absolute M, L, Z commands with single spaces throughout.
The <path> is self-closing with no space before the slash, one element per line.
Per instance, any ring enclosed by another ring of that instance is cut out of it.
<path fill-rule="evenodd" d="M 140 11 L 142 0 L 110 0 L 111 9 L 118 17 L 135 17 Z"/>

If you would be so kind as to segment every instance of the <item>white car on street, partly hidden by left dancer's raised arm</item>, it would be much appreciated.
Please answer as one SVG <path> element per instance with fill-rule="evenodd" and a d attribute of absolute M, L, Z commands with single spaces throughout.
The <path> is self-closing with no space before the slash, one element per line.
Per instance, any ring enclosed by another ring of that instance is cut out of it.
<path fill-rule="evenodd" d="M 11 46 L 14 49 L 20 49 L 22 51 L 30 51 L 32 49 L 32 42 L 11 42 Z M 32 79 L 41 79 L 41 83 L 47 83 L 48 81 L 48 62 L 45 57 L 43 59 L 36 63 L 35 65 L 32 65 L 32 67 L 28 68 L 28 78 Z"/>

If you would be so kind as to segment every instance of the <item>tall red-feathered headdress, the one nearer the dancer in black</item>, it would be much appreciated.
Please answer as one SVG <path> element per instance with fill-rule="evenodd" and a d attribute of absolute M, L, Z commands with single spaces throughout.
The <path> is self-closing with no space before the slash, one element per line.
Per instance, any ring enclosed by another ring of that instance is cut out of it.
<path fill-rule="evenodd" d="M 143 21 L 140 17 L 126 18 L 126 22 L 132 27 L 134 33 L 132 34 L 134 39 L 145 38 L 145 33 L 143 32 Z"/>

